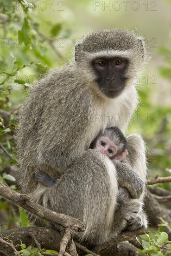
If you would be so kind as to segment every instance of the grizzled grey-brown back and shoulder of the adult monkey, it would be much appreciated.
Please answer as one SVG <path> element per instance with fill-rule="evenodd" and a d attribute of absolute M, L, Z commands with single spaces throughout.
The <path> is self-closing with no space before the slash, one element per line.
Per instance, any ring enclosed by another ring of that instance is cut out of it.
<path fill-rule="evenodd" d="M 76 158 L 70 151 L 76 148 L 76 154 L 79 150 L 81 154 L 85 150 L 85 143 L 80 140 L 85 140 L 84 133 L 89 128 L 91 97 L 79 75 L 75 80 L 75 70 L 70 64 L 51 71 L 32 87 L 20 109 L 19 178 L 21 189 L 27 193 L 32 190 L 31 184 L 36 186 L 34 173 L 43 171 L 57 176 L 57 166 L 60 172 L 72 157 Z"/>

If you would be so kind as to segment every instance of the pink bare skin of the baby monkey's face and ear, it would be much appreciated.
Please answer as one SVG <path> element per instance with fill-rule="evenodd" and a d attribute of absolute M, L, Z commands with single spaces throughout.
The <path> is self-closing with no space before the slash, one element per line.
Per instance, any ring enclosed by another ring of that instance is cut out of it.
<path fill-rule="evenodd" d="M 114 156 L 118 151 L 118 147 L 116 146 L 114 141 L 111 141 L 107 136 L 99 137 L 93 149 L 100 150 L 103 155 L 107 155 L 109 158 Z M 128 151 L 126 149 L 120 155 L 115 157 L 114 160 L 120 162 L 125 158 L 127 154 Z"/>

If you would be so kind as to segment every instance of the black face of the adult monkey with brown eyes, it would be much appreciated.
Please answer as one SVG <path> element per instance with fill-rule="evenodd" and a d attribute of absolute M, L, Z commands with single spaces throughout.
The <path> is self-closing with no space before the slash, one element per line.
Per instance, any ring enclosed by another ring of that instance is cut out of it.
<path fill-rule="evenodd" d="M 120 95 L 126 86 L 128 60 L 120 57 L 101 58 L 94 60 L 92 65 L 101 92 L 109 98 Z"/>

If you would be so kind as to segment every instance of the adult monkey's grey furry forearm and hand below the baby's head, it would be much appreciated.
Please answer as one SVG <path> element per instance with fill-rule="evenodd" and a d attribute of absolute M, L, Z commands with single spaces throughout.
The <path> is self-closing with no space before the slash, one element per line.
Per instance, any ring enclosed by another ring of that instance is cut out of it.
<path fill-rule="evenodd" d="M 114 165 L 117 171 L 118 183 L 120 187 L 126 188 L 131 198 L 139 198 L 145 185 L 139 174 L 126 163 L 116 162 Z"/>

